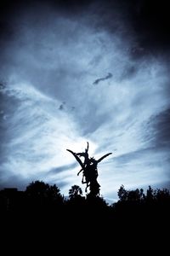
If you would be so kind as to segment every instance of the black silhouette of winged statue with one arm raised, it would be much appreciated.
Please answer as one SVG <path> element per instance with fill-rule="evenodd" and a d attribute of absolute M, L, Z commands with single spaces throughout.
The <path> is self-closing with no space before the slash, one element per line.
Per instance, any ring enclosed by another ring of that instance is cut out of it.
<path fill-rule="evenodd" d="M 89 194 L 96 196 L 96 195 L 99 195 L 99 187 L 100 187 L 100 185 L 97 181 L 98 164 L 101 160 L 104 160 L 105 157 L 107 157 L 108 155 L 110 155 L 112 153 L 105 154 L 102 157 L 100 157 L 99 160 L 95 160 L 94 157 L 88 158 L 88 148 L 89 148 L 89 145 L 85 149 L 85 152 L 82 152 L 82 153 L 75 153 L 75 152 L 71 151 L 70 149 L 66 149 L 66 150 L 71 152 L 71 154 L 74 155 L 77 162 L 82 167 L 82 169 L 77 173 L 77 175 L 79 175 L 79 173 L 82 172 L 82 183 L 87 184 L 85 191 L 87 192 L 87 189 L 89 187 L 89 190 L 90 190 Z M 84 157 L 83 163 L 79 156 Z"/>

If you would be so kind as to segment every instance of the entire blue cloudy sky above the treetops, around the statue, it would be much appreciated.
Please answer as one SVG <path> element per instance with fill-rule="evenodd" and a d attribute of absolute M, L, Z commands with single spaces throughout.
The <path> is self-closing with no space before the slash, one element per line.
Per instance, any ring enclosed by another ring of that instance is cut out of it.
<path fill-rule="evenodd" d="M 5 1 L 0 13 L 0 188 L 74 184 L 66 151 L 99 159 L 100 195 L 170 187 L 166 1 Z"/>

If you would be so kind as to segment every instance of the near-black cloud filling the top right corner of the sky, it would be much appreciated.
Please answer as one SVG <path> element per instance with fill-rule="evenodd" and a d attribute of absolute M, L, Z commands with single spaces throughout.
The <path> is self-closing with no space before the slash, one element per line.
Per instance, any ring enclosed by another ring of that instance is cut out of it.
<path fill-rule="evenodd" d="M 101 17 L 99 26 L 109 32 L 133 39 L 135 57 L 169 53 L 170 15 L 167 0 L 99 1 L 94 12 Z M 95 6 L 95 5 L 94 5 Z"/>

